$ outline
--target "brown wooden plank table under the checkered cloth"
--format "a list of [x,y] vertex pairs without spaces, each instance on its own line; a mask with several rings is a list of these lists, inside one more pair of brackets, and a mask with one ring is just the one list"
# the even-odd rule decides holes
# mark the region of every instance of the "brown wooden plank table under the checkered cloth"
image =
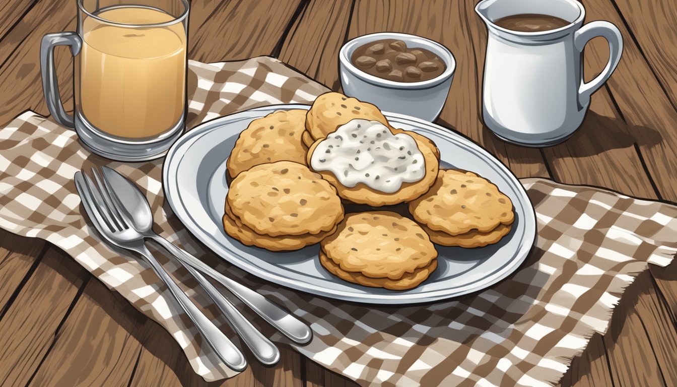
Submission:
[[[458,62],[439,123],[483,144],[518,177],[603,186],[677,201],[677,3],[586,0],[587,20],[609,20],[624,37],[613,77],[592,97],[580,131],[564,144],[523,148],[481,123],[486,30],[460,0],[192,1],[190,58],[203,62],[271,55],[339,89],[337,52],[353,37],[390,30],[435,39]],[[39,45],[74,30],[74,0],[5,0],[0,5],[0,124],[43,102]],[[586,79],[606,63],[596,39]],[[58,49],[62,96],[72,104],[71,59]],[[594,73],[593,73],[594,70]],[[0,148],[1,149],[1,148]],[[677,237],[677,236],[676,236]],[[569,386],[677,386],[677,266],[651,267],[615,308],[561,380]],[[39,239],[0,231],[0,384],[22,386],[203,385],[159,325]],[[344,386],[353,382],[288,348],[272,368],[251,366],[223,386]]]

